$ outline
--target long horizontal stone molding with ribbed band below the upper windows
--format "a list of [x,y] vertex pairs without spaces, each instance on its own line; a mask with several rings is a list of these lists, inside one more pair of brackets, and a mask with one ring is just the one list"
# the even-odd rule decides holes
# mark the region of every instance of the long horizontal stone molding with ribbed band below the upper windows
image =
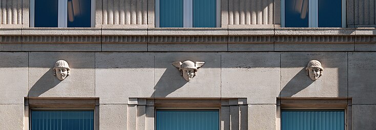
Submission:
[[[358,31],[358,32],[357,32]],[[0,43],[375,43],[376,29],[0,29]],[[240,32],[240,33],[234,33]],[[273,33],[274,32],[274,33]]]

